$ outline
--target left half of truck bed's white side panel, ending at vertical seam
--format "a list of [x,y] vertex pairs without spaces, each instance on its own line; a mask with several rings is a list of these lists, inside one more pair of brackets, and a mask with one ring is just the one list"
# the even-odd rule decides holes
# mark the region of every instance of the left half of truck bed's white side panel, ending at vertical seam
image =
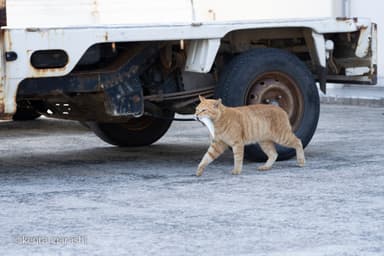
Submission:
[[7,0],[9,27],[190,22],[190,0]]

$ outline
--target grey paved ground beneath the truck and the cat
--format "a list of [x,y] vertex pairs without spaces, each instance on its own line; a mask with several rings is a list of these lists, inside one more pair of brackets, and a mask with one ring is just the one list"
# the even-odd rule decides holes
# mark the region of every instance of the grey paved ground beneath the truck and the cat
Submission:
[[76,123],[0,123],[1,255],[384,255],[384,108],[322,106],[307,165],[269,172],[176,122],[122,149]]

